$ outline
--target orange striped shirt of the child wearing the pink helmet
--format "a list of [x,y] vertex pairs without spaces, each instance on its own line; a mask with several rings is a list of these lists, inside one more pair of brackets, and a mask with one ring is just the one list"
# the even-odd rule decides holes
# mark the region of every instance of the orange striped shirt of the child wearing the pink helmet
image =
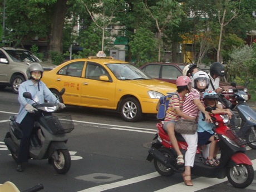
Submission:
[[[179,93],[178,93],[179,94]],[[180,97],[180,99],[179,99]],[[168,105],[168,110],[170,110],[166,116],[164,121],[178,121],[179,120],[179,115],[176,114],[176,110],[183,106],[185,97],[182,97],[179,95],[179,97],[177,95],[174,95],[170,98],[169,101],[169,105]]]

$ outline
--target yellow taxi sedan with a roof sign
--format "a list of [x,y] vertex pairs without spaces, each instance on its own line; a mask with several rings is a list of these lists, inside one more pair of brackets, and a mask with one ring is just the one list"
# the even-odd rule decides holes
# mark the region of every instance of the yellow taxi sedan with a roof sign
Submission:
[[[42,81],[66,105],[117,110],[129,122],[139,121],[143,114],[156,114],[159,98],[176,91],[175,84],[155,80],[103,52],[62,63],[44,72]],[[63,87],[66,91],[60,96]]]

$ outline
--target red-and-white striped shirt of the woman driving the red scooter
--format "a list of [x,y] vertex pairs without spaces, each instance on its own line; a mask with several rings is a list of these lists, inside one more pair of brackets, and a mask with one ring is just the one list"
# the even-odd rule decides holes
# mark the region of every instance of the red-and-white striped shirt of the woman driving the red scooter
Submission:
[[183,104],[183,110],[182,110],[184,114],[189,115],[190,117],[198,117],[200,112],[198,107],[193,102],[194,99],[199,99],[201,101],[201,104],[204,105],[203,94],[201,94],[200,96],[199,91],[193,88],[189,92],[189,95],[186,96],[186,100]]

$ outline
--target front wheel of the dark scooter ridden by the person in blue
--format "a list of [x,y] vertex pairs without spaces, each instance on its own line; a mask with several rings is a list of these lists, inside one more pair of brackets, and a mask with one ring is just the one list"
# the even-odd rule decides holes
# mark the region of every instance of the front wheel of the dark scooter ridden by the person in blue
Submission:
[[65,150],[56,150],[58,153],[58,160],[53,159],[53,168],[57,171],[58,174],[66,174],[71,167],[71,157],[67,149]]

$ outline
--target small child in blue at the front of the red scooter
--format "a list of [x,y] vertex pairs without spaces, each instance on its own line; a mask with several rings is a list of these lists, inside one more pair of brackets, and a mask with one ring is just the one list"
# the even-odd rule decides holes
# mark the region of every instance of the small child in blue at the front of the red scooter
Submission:
[[[231,118],[232,113],[229,110],[220,110],[216,108],[216,105],[218,104],[218,95],[215,91],[204,92],[203,100],[205,107],[209,106],[213,109],[211,111],[213,114],[228,114],[229,118]],[[204,119],[204,114],[200,112],[198,120],[198,144],[200,146],[203,146],[209,141],[211,142],[209,148],[209,155],[205,163],[209,166],[218,166],[219,160],[217,159],[216,155],[219,147],[216,146],[216,140],[213,132],[213,124],[205,122]]]

